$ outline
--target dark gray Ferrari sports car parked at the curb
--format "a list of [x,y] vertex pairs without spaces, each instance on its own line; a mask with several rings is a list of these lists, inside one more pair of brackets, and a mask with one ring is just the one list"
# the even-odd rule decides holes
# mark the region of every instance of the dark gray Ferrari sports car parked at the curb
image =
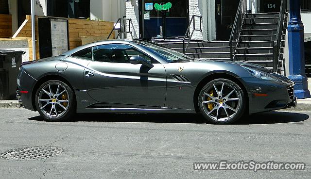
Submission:
[[201,113],[214,124],[295,107],[294,82],[262,66],[191,59],[142,40],[107,40],[23,63],[17,97],[47,121],[75,113]]

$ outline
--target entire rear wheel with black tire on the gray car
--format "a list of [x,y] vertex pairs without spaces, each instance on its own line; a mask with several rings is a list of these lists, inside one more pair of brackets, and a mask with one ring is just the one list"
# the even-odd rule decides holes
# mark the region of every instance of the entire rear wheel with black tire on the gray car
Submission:
[[[51,90],[52,93],[50,91],[50,95],[46,93],[48,92],[48,89],[52,89]],[[44,90],[46,92],[44,92]],[[66,92],[64,93],[59,92],[59,91],[65,91],[65,90]],[[60,94],[59,95],[57,93],[53,94],[55,91],[58,91],[58,93]],[[51,99],[49,100],[49,98]],[[49,101],[39,101],[39,99],[49,100]],[[61,102],[61,101],[68,101],[68,102]],[[50,81],[47,81],[41,84],[40,87],[37,89],[36,94],[35,94],[35,107],[37,111],[39,112],[39,114],[44,118],[45,121],[54,121],[54,122],[66,121],[76,113],[76,99],[75,99],[72,89],[69,87],[68,84],[66,84],[63,81],[50,80]],[[51,112],[50,114],[48,114],[47,111],[50,108],[51,108]]]

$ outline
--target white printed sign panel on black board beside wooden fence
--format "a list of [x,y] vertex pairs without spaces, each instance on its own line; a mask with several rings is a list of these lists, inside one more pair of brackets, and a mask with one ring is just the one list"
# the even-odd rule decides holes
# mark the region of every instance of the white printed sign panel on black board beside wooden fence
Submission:
[[67,20],[51,19],[52,55],[57,56],[68,51]]

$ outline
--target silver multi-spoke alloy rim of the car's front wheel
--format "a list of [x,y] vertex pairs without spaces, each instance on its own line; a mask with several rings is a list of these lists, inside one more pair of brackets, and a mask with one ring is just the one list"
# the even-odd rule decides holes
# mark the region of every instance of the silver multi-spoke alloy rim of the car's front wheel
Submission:
[[202,95],[202,106],[205,113],[216,121],[233,118],[241,108],[242,96],[230,84],[215,82],[208,86]]

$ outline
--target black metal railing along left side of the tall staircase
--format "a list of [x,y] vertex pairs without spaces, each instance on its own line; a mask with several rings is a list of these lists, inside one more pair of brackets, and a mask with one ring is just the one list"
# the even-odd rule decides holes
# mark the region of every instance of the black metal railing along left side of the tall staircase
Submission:
[[229,46],[230,46],[230,57],[233,61],[235,58],[235,53],[238,47],[242,26],[244,23],[244,18],[247,13],[246,0],[240,0],[237,14],[235,16],[234,24],[232,26],[232,31],[230,34]]

